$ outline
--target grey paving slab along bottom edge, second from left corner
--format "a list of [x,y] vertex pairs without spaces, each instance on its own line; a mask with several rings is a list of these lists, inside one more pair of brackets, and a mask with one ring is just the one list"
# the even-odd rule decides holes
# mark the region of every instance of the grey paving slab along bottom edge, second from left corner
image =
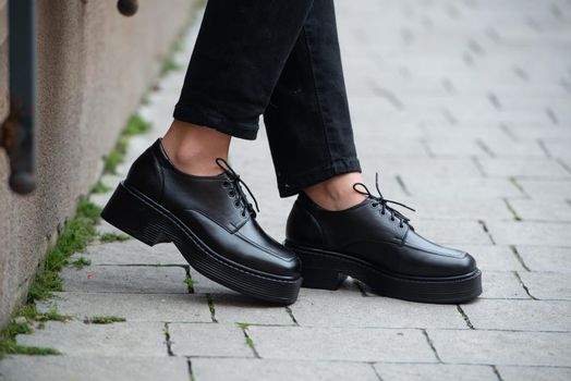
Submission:
[[196,380],[228,381],[378,381],[369,364],[243,358],[193,358]]

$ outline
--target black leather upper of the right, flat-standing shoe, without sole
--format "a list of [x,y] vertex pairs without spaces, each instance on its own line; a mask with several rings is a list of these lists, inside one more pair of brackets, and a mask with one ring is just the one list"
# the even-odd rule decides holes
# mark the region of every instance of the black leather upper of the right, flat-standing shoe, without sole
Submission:
[[301,193],[288,218],[287,239],[350,255],[405,275],[453,276],[476,269],[467,253],[422,237],[390,210],[382,213],[377,204],[368,197],[349,209],[329,211]]

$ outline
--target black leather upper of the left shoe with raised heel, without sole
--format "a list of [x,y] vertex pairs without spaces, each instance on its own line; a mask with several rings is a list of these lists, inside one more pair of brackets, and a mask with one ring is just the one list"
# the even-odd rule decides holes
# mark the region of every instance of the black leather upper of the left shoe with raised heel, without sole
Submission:
[[168,209],[228,260],[271,275],[299,275],[295,254],[262,230],[227,171],[216,176],[181,172],[157,139],[133,163],[125,185]]

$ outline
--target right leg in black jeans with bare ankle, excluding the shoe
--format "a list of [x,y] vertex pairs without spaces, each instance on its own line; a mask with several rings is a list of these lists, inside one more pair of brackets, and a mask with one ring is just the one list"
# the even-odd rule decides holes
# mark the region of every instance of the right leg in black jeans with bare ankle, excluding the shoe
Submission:
[[305,190],[327,209],[363,200],[332,0],[316,0],[264,113],[282,197]]

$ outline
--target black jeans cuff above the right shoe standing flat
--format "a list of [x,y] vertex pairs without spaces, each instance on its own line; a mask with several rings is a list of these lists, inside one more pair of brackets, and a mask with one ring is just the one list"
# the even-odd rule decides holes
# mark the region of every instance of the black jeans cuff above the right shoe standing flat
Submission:
[[281,176],[281,179],[278,179],[278,190],[280,197],[294,196],[307,186],[348,172],[361,172],[361,164],[356,157],[337,159],[302,173],[296,173],[291,176]]

